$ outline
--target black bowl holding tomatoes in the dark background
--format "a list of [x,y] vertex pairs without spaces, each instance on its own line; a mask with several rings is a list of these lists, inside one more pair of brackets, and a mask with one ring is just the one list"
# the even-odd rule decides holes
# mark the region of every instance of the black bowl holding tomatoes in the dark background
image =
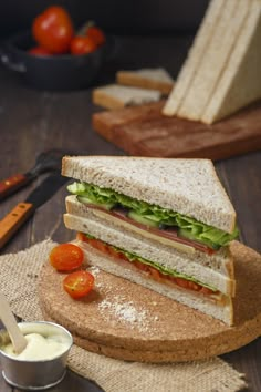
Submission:
[[71,91],[90,86],[105,61],[112,56],[114,40],[90,54],[33,55],[28,52],[35,42],[30,32],[19,33],[1,45],[0,60],[8,69],[23,75],[27,83],[45,91]]

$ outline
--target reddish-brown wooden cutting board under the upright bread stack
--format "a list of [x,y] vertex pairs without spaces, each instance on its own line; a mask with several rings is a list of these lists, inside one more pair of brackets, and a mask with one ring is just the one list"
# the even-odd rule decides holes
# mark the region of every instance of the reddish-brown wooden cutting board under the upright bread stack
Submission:
[[157,102],[93,115],[93,128],[129,155],[212,161],[261,149],[261,103],[213,125],[161,114]]

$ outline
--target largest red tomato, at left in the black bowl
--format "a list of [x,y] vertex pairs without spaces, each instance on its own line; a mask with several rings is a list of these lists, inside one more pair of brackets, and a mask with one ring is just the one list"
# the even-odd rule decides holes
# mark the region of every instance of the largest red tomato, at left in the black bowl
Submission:
[[34,40],[51,53],[66,53],[74,34],[70,14],[63,7],[49,7],[32,24]]

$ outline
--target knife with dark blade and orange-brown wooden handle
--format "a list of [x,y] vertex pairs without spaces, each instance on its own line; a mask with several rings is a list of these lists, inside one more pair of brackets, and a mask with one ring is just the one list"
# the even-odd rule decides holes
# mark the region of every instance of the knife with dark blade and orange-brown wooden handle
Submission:
[[36,208],[50,199],[58,189],[69,180],[60,172],[49,175],[28,196],[0,220],[0,249],[17,233],[17,230],[34,214]]

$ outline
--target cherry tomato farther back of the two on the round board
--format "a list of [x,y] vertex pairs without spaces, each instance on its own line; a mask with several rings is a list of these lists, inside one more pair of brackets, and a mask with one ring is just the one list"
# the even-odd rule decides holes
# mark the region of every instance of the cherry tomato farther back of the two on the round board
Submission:
[[50,252],[50,262],[58,271],[71,271],[83,264],[83,250],[74,244],[61,244]]

